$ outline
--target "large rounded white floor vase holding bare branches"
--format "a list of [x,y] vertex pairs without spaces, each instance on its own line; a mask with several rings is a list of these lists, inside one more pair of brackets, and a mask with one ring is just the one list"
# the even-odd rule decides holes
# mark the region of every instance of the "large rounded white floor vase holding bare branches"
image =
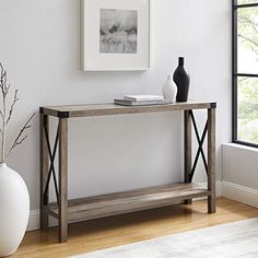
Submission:
[[22,177],[0,164],[0,257],[14,254],[28,222],[30,197]]

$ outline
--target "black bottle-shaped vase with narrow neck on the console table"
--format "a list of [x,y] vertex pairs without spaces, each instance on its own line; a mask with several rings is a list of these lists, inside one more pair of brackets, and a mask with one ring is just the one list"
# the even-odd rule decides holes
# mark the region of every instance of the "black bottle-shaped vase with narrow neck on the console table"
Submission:
[[187,102],[189,85],[190,85],[190,77],[184,68],[185,59],[184,57],[178,58],[178,67],[174,72],[173,80],[177,85],[177,102]]

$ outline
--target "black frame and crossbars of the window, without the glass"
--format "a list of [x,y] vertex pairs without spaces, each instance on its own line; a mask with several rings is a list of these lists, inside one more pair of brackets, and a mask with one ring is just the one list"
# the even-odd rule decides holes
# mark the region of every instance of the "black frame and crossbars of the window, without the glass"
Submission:
[[244,142],[237,139],[237,78],[258,78],[258,74],[254,73],[237,73],[237,10],[241,8],[258,8],[257,3],[237,4],[237,0],[232,0],[232,89],[233,89],[233,104],[232,104],[232,141],[234,143],[255,146],[258,144],[251,142]]

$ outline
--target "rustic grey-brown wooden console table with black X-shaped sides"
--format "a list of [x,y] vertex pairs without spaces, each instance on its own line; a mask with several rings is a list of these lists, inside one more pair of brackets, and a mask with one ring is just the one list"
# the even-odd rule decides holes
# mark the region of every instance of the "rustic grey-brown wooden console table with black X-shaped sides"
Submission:
[[[198,132],[195,109],[208,110],[208,119],[202,134]],[[184,183],[68,200],[69,119],[174,110],[184,112]],[[68,223],[165,207],[183,201],[191,203],[192,198],[206,196],[208,197],[208,212],[215,212],[215,103],[199,101],[133,107],[114,104],[40,107],[40,228],[47,231],[49,215],[56,218],[59,227],[59,242],[63,243],[68,239]],[[58,119],[57,134],[52,146],[49,140],[50,116]],[[192,129],[199,143],[195,160],[192,159]],[[207,134],[208,151],[206,155],[203,143]],[[59,150],[58,178],[54,165],[57,149]],[[202,159],[207,171],[207,188],[191,183],[199,157]],[[55,203],[49,203],[51,177],[57,197]]]

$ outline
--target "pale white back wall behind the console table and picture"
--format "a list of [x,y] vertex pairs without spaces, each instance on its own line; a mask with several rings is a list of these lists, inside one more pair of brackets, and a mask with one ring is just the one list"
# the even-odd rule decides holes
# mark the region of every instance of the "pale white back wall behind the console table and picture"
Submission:
[[[153,0],[152,33],[150,71],[81,72],[79,0],[1,0],[0,61],[21,97],[9,137],[43,105],[160,94],[177,57],[185,56],[190,97],[219,104],[221,179],[220,146],[231,139],[231,1]],[[71,120],[70,197],[181,180],[181,119],[174,113]],[[38,138],[37,117],[28,140],[9,161],[28,186],[32,210],[39,199]],[[199,171],[196,180],[204,181],[202,165]]]

